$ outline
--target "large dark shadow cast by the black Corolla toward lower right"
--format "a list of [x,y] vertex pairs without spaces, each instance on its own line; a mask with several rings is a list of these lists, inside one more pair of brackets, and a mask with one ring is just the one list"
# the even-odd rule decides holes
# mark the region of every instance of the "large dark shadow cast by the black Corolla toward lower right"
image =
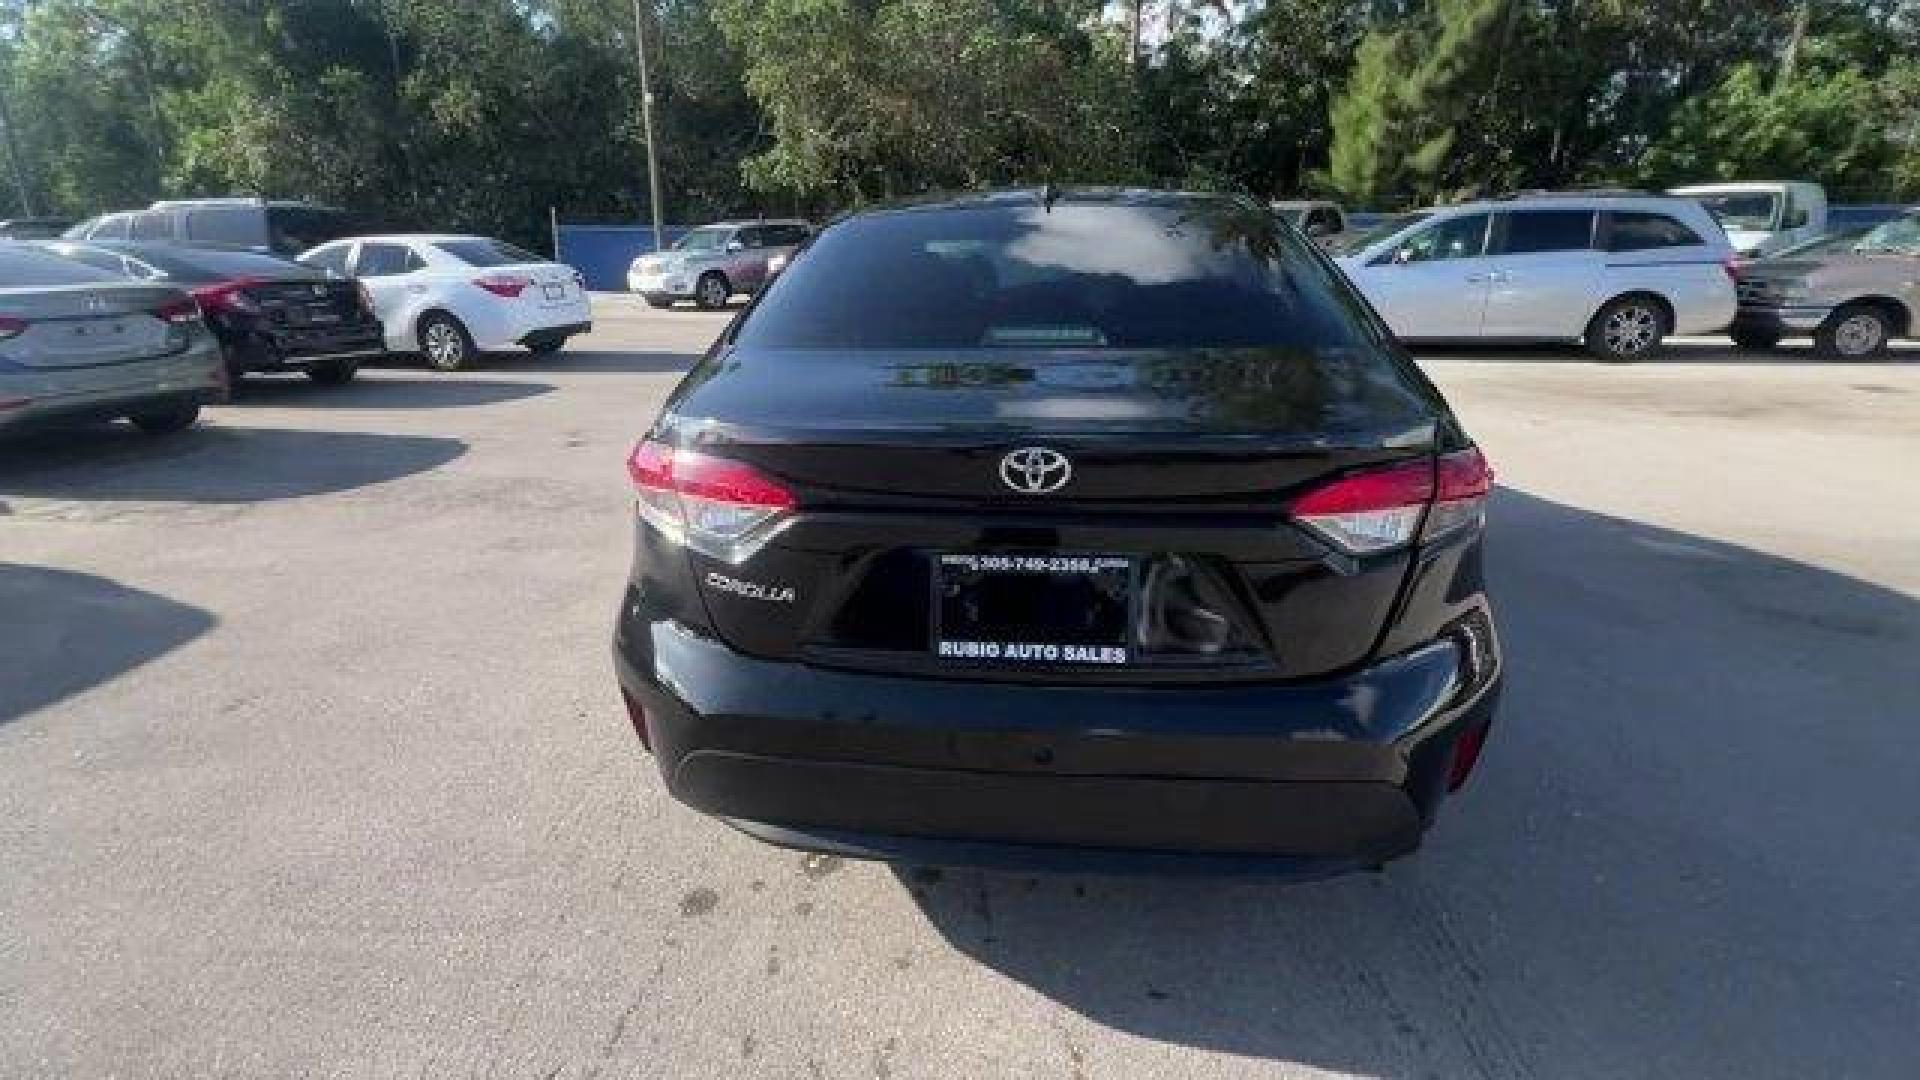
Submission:
[[977,963],[1165,1043],[1394,1078],[1910,1076],[1920,601],[1513,490],[1488,550],[1507,696],[1421,853],[902,886]]

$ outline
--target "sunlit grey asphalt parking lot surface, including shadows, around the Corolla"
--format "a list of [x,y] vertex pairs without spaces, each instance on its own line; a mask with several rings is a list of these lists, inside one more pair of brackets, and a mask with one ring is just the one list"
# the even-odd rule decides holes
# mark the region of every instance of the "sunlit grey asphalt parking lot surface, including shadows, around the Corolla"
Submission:
[[622,455],[722,319],[0,444],[0,1072],[1912,1076],[1920,354],[1430,356],[1501,724],[1425,851],[1275,884],[666,799]]

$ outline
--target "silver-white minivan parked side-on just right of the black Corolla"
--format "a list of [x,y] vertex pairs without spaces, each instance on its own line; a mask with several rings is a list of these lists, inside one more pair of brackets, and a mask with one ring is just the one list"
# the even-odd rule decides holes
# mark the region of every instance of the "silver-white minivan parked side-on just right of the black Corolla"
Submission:
[[1734,321],[1734,250],[1701,204],[1542,194],[1390,217],[1338,265],[1405,340],[1565,340],[1640,359]]

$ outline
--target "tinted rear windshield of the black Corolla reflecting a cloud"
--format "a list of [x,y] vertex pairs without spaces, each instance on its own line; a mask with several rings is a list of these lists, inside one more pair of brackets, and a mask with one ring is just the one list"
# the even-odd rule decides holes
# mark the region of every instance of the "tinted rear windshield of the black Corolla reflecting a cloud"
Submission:
[[1344,348],[1373,340],[1296,234],[1225,198],[854,217],[745,319],[749,348]]

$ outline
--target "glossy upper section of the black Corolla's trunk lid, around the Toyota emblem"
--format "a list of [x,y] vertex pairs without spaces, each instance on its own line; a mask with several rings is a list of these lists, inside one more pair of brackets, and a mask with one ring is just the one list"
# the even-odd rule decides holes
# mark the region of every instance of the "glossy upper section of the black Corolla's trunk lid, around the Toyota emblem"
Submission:
[[[1432,444],[1434,407],[1382,367],[1357,350],[735,352],[697,369],[672,415],[684,438],[814,502],[1271,509]],[[1041,500],[1016,490],[1000,465],[1025,446],[1068,455],[1069,480]]]

